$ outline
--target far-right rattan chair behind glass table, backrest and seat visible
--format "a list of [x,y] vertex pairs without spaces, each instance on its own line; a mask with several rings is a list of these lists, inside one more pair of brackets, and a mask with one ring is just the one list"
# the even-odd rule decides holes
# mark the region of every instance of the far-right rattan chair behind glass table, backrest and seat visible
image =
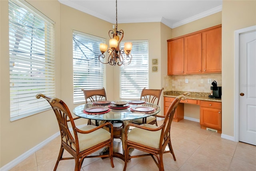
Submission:
[[[154,103],[154,104],[158,105],[160,97],[161,97],[161,93],[163,90],[164,90],[164,88],[162,88],[162,89],[146,89],[146,87],[144,87],[140,94],[140,100],[144,100],[145,102],[150,102],[150,103]],[[156,116],[148,116],[146,118],[134,119],[132,121],[132,123],[138,124],[138,125],[141,125],[141,124],[154,125],[154,124],[156,124],[156,126],[157,126]]]

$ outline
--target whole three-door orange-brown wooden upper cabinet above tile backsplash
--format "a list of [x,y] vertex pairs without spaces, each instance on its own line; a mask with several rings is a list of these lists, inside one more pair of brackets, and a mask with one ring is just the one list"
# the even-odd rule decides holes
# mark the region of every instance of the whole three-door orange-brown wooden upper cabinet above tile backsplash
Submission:
[[221,73],[221,25],[168,40],[168,75]]

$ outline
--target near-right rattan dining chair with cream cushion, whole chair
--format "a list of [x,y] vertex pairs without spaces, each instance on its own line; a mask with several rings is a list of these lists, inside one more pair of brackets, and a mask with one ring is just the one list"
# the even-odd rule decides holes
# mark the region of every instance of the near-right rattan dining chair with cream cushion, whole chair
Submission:
[[[186,92],[186,96],[189,96],[190,93]],[[174,155],[174,151],[172,149],[171,137],[170,137],[170,128],[172,124],[172,119],[175,114],[175,110],[180,102],[180,100],[185,100],[186,96],[184,94],[176,97],[170,107],[168,108],[166,115],[164,117],[164,123],[161,126],[155,126],[151,124],[127,124],[125,128],[124,135],[124,169],[126,170],[127,163],[129,159],[135,157],[144,157],[151,156],[156,165],[158,166],[159,171],[164,171],[164,163],[163,163],[163,154],[171,153],[174,161],[176,161],[176,157]],[[132,130],[129,132],[129,126],[133,126]],[[168,145],[169,150],[166,151],[166,146]],[[129,150],[131,148],[138,149],[140,151],[146,152],[146,154],[138,154],[135,155],[129,154]]]

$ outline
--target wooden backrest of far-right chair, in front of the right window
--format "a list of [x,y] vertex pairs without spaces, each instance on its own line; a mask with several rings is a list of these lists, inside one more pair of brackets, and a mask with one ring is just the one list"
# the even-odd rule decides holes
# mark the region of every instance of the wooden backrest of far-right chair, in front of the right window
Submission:
[[164,88],[146,89],[146,87],[144,87],[140,94],[140,100],[144,100],[146,102],[150,102],[158,105],[162,90],[164,90]]

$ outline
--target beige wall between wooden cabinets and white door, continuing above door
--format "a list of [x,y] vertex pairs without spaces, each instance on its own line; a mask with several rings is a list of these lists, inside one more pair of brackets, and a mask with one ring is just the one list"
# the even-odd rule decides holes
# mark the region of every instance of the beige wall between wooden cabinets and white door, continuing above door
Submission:
[[222,4],[222,134],[234,136],[234,31],[256,25],[256,1]]

